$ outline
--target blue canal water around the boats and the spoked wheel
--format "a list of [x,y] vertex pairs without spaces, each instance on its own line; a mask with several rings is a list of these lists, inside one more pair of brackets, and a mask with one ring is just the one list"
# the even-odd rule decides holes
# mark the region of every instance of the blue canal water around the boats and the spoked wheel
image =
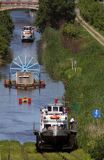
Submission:
[[[21,42],[21,29],[24,25],[33,25],[33,17],[27,11],[11,11],[11,17],[15,28],[13,38],[10,43],[10,49],[13,58],[18,55],[30,55],[37,58],[37,41],[40,34],[35,32],[35,41],[33,43]],[[34,141],[33,123],[39,124],[39,110],[42,105],[52,102],[56,97],[62,97],[64,94],[64,85],[62,82],[53,81],[46,73],[44,66],[41,66],[41,79],[45,80],[44,89],[34,89],[29,91],[8,89],[3,85],[3,81],[9,75],[10,65],[0,69],[0,140],[18,140],[21,143]],[[18,98],[31,97],[32,103],[18,104]]]

